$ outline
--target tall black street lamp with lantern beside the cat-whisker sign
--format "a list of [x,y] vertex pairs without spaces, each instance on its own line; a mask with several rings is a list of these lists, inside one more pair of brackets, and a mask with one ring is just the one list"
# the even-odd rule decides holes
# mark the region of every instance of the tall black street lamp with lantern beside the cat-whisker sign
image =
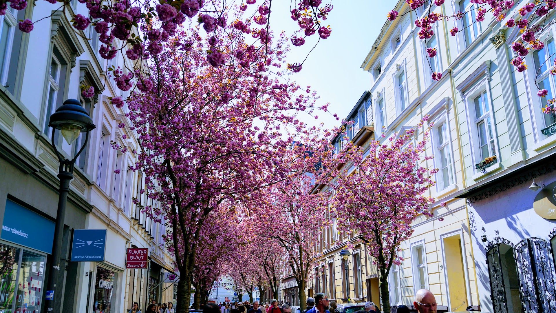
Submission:
[[[57,288],[58,274],[60,271],[60,257],[62,253],[62,237],[64,229],[64,217],[66,217],[66,200],[69,192],[69,182],[73,179],[73,165],[77,157],[81,154],[87,140],[89,139],[89,132],[96,126],[93,120],[87,113],[81,102],[76,99],[68,99],[64,101],[62,106],[58,107],[56,112],[50,116],[48,126],[52,127],[52,148],[58,156],[60,167],[58,169],[58,178],[60,179],[58,211],[56,213],[56,227],[54,228],[54,242],[52,243],[52,270],[48,275],[47,291],[46,291],[46,312],[59,312],[59,306],[56,306],[56,299],[54,291],[60,292],[61,288]],[[56,130],[62,133],[66,142],[71,145],[79,137],[81,133],[86,133],[85,142],[81,149],[73,156],[73,159],[68,160],[64,158],[56,148],[54,143],[54,134]]]

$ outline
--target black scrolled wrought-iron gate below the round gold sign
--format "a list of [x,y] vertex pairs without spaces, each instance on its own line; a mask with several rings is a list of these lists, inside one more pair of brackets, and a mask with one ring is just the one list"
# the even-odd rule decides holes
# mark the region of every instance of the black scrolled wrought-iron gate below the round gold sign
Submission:
[[527,238],[515,246],[519,287],[526,313],[556,313],[554,260],[550,243]]

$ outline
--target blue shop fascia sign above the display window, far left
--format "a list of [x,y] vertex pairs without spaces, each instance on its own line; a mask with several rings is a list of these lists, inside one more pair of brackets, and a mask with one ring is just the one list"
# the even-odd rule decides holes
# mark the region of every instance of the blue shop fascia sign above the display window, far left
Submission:
[[8,199],[0,238],[52,253],[54,222]]

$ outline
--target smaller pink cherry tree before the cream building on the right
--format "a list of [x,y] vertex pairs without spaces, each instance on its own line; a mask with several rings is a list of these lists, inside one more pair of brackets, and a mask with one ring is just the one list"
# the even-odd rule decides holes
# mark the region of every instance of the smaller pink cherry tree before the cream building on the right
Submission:
[[380,273],[383,310],[387,313],[388,275],[392,265],[400,265],[403,260],[399,256],[400,244],[409,239],[413,233],[411,223],[420,214],[432,216],[429,204],[434,201],[426,191],[434,185],[432,175],[437,170],[423,164],[432,158],[423,155],[429,130],[423,132],[420,141],[413,142],[421,128],[423,121],[405,134],[393,135],[384,144],[371,140],[368,156],[361,147],[346,142],[337,154],[322,159],[328,170],[327,185],[336,191],[332,214],[337,227],[343,233],[355,234],[373,256]]

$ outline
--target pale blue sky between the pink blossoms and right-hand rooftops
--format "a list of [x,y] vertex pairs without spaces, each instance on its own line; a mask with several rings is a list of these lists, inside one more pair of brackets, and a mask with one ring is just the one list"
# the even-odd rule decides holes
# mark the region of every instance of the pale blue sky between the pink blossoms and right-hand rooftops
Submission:
[[[327,1],[324,0],[324,3]],[[346,118],[363,91],[370,89],[369,72],[360,69],[386,21],[386,13],[394,8],[396,0],[332,0],[334,9],[324,25],[332,28],[331,36],[321,40],[311,52],[301,72],[290,75],[301,86],[310,85],[318,92],[320,103],[330,102],[329,111]],[[297,27],[290,18],[290,0],[272,2],[271,28],[291,33]],[[302,47],[291,47],[288,61],[301,62],[316,42],[311,36]],[[319,120],[332,128],[340,122],[330,114],[319,114]]]

